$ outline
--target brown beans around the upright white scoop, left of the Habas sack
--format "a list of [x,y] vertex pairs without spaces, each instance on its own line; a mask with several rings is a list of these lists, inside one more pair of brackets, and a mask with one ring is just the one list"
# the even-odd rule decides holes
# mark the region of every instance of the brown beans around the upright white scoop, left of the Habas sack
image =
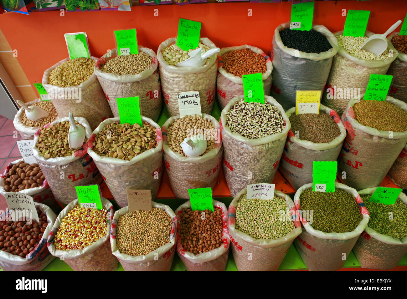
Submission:
[[[75,121],[79,126],[79,122]],[[59,122],[53,124],[49,127],[42,128],[41,133],[38,137],[37,148],[39,154],[46,158],[55,158],[55,157],[68,157],[72,156],[80,148],[70,148],[68,143],[68,132],[71,123],[69,121]],[[83,126],[82,126],[83,127]],[[88,139],[85,137],[83,144],[85,144]]]

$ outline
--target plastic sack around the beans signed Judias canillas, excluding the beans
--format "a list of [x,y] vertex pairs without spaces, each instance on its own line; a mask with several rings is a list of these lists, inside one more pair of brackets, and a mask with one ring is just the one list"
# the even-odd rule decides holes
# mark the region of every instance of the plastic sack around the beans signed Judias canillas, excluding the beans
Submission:
[[114,117],[119,117],[116,98],[138,96],[140,98],[142,115],[157,121],[162,108],[157,57],[153,50],[143,46],[138,46],[138,51],[150,55],[152,63],[148,70],[136,75],[118,75],[104,72],[101,70],[101,66],[107,60],[117,57],[117,49],[113,49],[98,59],[95,66],[95,74],[102,86]]

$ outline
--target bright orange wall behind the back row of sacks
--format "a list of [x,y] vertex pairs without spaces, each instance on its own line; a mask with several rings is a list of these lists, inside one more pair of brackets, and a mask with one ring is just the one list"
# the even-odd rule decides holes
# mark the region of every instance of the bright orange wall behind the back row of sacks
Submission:
[[[159,16],[154,17],[154,9]],[[252,9],[253,16],[247,16]],[[406,0],[315,2],[314,24],[330,31],[343,29],[342,9],[370,10],[368,29],[383,33],[407,12]],[[0,15],[0,28],[31,83],[41,82],[46,68],[68,57],[64,33],[85,31],[90,52],[100,57],[114,48],[113,30],[136,27],[139,44],[157,50],[158,45],[177,33],[178,18],[202,22],[201,37],[209,37],[217,46],[249,44],[271,51],[271,39],[278,24],[290,17],[291,2],[212,3],[133,7],[127,11],[66,12],[48,11],[22,15]]]

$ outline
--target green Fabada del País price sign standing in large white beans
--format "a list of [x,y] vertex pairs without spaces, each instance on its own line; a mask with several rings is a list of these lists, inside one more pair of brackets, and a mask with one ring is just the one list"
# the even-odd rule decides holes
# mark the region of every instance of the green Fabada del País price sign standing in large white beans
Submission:
[[177,46],[184,51],[197,48],[200,34],[201,22],[180,18],[178,23]]

